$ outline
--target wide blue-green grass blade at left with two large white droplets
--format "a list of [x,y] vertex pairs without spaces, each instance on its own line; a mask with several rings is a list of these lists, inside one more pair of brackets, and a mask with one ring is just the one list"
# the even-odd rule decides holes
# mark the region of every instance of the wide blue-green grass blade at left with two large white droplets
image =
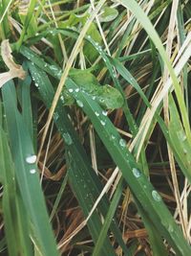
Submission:
[[43,254],[58,255],[36,171],[37,167],[34,163],[29,164],[26,161],[26,157],[34,155],[32,139],[17,110],[14,84],[11,81],[5,84],[2,93],[16,178],[25,207],[32,220],[34,235]]

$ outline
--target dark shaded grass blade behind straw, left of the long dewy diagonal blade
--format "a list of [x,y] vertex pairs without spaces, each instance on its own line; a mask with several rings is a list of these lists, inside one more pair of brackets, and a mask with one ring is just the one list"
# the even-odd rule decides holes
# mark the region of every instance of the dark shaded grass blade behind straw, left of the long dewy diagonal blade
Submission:
[[[32,79],[38,83],[38,89],[43,101],[47,107],[50,107],[50,103],[53,101],[53,86],[51,82],[46,74],[43,71],[40,71],[39,68],[32,65],[32,63],[28,63],[28,66],[32,74]],[[68,115],[65,112],[61,101],[57,105],[54,114],[54,122],[60,131],[60,134],[65,139],[69,155],[72,155],[69,161],[69,181],[72,185],[74,195],[83,210],[84,216],[87,217],[94,205],[94,202],[96,201],[96,198],[98,198],[99,191],[101,190],[100,183],[95,171],[90,167],[83,148],[79,144],[74,128],[69,121]],[[108,209],[107,205],[108,203],[106,203],[105,200],[100,204],[100,212],[102,214],[106,214]],[[101,222],[97,213],[95,213],[88,221],[88,226],[93,240],[96,243],[101,228]],[[114,249],[108,239],[104,244],[102,253],[103,255],[108,255],[108,253],[110,255],[115,255]]]

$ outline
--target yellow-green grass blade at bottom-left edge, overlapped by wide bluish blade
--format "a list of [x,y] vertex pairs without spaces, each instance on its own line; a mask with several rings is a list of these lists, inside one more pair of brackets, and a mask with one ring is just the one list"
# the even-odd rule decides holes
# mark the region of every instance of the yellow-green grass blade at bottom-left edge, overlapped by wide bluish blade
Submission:
[[[3,183],[3,217],[9,254],[32,255],[30,221],[16,189],[7,134],[0,128],[0,181]],[[25,216],[24,219],[22,217]],[[16,234],[16,236],[15,236]]]

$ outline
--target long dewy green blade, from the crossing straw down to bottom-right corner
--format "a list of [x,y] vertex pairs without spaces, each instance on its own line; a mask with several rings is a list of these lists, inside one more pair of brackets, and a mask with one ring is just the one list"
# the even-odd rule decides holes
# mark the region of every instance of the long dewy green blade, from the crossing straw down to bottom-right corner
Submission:
[[160,235],[172,245],[179,255],[183,256],[186,253],[190,253],[189,245],[184,240],[179,226],[162,202],[159,193],[153,188],[146,176],[138,171],[138,164],[133,155],[127,150],[125,141],[119,136],[117,129],[114,128],[111,121],[102,114],[101,107],[89,98],[87,94],[81,91],[76,93],[75,89],[78,86],[73,81],[68,81],[66,86],[70,91],[73,89],[75,100],[81,102],[80,106],[91,119],[96,132],[115,160],[132,193],[138,198],[138,202],[144,211],[154,223],[158,222]]

